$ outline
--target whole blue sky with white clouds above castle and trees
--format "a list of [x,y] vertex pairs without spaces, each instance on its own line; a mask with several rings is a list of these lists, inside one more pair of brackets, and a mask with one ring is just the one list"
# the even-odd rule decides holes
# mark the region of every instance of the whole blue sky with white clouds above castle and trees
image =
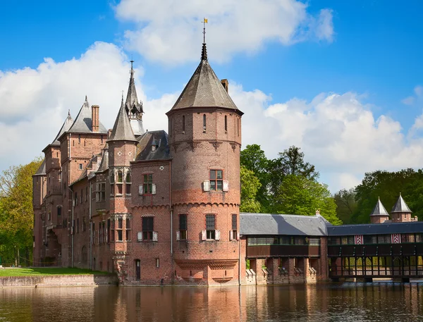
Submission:
[[[54,140],[88,97],[111,128],[130,60],[144,128],[207,52],[243,116],[243,147],[295,145],[331,192],[364,173],[422,168],[422,1],[5,1],[0,19],[0,171]],[[125,93],[124,92],[124,93]]]

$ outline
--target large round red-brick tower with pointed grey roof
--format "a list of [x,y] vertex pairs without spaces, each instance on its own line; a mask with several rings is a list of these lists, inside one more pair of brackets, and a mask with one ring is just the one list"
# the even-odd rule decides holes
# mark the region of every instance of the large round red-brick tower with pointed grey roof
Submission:
[[176,280],[238,283],[241,112],[202,46],[168,116]]

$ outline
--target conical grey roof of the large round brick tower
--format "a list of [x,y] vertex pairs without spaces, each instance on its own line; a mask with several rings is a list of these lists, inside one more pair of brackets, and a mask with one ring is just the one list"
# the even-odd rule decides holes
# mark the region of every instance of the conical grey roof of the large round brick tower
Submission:
[[[205,44],[203,44],[203,54],[200,65],[195,70],[188,84],[183,89],[180,97],[173,105],[171,111],[188,107],[221,107],[238,110],[233,103],[226,89],[217,78],[214,70],[204,56]],[[170,113],[171,111],[168,111]]]

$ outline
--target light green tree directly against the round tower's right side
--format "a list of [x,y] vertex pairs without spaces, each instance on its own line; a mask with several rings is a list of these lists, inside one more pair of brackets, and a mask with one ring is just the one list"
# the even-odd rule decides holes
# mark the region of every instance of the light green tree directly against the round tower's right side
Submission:
[[258,213],[260,212],[260,203],[256,196],[259,188],[262,186],[254,172],[248,170],[245,166],[240,169],[241,178],[241,205],[240,211]]

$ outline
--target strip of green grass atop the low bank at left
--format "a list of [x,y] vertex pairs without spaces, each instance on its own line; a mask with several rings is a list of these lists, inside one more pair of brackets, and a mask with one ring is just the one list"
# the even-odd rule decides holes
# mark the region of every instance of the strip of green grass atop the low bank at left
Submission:
[[107,272],[90,271],[80,268],[4,268],[0,269],[1,276],[45,276],[45,275],[106,275]]

